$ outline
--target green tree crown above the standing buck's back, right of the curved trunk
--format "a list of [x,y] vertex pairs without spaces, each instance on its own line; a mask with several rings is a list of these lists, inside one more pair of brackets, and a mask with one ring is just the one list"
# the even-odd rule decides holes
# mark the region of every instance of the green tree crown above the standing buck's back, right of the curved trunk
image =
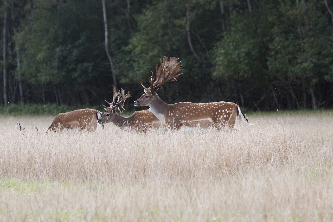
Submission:
[[263,72],[262,43],[248,17],[249,14],[244,14],[243,19],[234,15],[232,22],[235,26],[230,34],[216,43],[212,50],[213,78],[222,81],[250,79],[257,78],[256,74]]

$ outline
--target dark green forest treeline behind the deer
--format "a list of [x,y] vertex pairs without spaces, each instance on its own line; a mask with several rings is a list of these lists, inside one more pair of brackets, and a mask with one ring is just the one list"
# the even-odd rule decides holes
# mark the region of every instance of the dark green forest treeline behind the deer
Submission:
[[133,107],[166,55],[184,69],[168,103],[333,107],[332,0],[103,1],[1,1],[1,104],[101,105],[117,85]]

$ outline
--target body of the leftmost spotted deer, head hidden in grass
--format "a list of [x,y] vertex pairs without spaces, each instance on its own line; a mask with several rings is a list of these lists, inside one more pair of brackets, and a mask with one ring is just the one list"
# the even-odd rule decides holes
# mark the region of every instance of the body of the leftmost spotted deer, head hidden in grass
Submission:
[[[96,109],[78,109],[67,113],[59,113],[47,132],[61,131],[64,129],[81,129],[92,132],[96,130],[97,120],[99,120],[101,116],[102,113]],[[103,124],[102,127],[104,128]]]

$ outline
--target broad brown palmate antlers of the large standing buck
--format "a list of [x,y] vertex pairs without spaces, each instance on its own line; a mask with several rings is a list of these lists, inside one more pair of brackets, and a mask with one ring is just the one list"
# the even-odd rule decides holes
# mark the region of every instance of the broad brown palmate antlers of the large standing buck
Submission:
[[173,82],[177,81],[176,77],[180,76],[182,73],[178,74],[182,68],[181,68],[181,62],[178,62],[179,58],[170,57],[167,58],[164,56],[163,62],[160,60],[161,66],[158,67],[158,64],[156,62],[156,80],[153,83],[154,80],[154,73],[152,72],[152,77],[149,78],[149,82],[151,83],[151,86],[149,88],[146,88],[141,81],[142,87],[146,91],[153,90],[156,92],[159,88],[162,87],[162,85],[166,82]]

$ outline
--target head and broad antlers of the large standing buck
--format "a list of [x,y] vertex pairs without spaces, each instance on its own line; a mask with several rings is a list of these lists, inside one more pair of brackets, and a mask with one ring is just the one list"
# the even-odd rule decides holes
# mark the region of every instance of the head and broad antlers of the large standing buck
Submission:
[[138,100],[134,101],[135,106],[149,106],[152,100],[157,96],[156,91],[162,88],[162,85],[166,82],[177,81],[177,77],[182,73],[178,74],[181,68],[181,62],[178,62],[179,58],[170,57],[167,58],[164,56],[163,62],[160,60],[160,67],[156,62],[156,79],[154,82],[154,73],[152,72],[152,76],[149,78],[150,87],[147,88],[144,86],[141,81],[141,85],[145,90],[145,94],[143,94]]

